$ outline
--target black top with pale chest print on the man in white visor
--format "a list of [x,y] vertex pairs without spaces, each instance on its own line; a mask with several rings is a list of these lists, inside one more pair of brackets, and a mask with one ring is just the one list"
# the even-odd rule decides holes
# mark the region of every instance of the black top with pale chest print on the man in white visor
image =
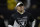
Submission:
[[[19,14],[18,12],[16,12],[15,14],[12,14],[9,19],[9,24],[13,25],[15,20],[17,21],[17,23],[19,25],[22,25],[21,22],[24,22],[26,24],[26,27],[29,27],[30,26],[29,22],[32,22],[34,20],[34,18],[31,13],[28,13],[25,11],[24,14],[22,14],[22,15]],[[25,24],[24,24],[24,26],[25,26]]]

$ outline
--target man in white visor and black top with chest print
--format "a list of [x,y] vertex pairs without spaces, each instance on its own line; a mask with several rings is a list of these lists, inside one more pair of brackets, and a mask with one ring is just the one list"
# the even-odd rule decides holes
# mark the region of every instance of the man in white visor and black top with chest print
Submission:
[[31,27],[30,22],[34,20],[31,13],[28,13],[24,10],[24,5],[22,2],[19,2],[16,5],[16,12],[12,14],[9,19],[8,27]]

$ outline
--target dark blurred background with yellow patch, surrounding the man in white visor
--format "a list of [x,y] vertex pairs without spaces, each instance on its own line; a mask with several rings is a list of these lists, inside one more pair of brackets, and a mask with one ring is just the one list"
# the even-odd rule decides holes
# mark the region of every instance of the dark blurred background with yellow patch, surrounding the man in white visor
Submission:
[[4,26],[4,20],[8,20],[15,13],[16,4],[22,1],[25,10],[36,19],[35,27],[40,27],[40,0],[0,0],[0,27]]

